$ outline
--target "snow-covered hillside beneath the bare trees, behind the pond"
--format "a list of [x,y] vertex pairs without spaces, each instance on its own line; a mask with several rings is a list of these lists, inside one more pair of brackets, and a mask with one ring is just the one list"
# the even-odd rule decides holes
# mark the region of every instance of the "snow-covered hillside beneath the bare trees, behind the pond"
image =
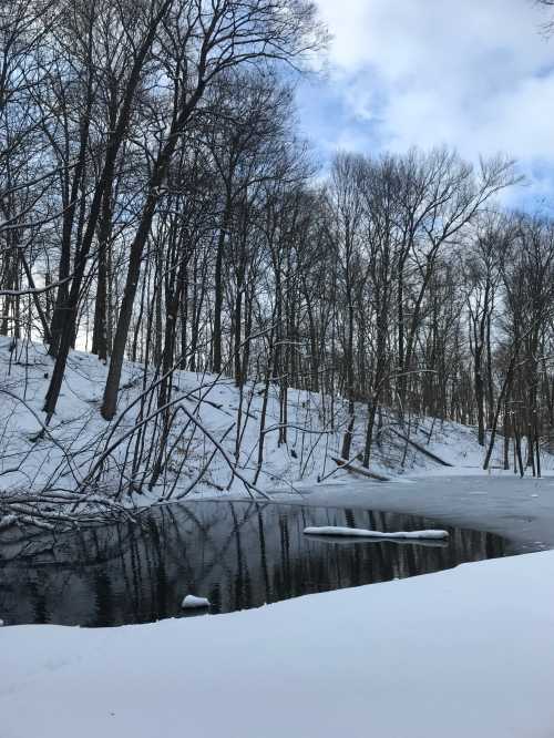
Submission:
[[[295,491],[318,480],[351,479],[350,472],[339,470],[336,463],[345,428],[345,407],[340,400],[334,403],[335,428],[331,428],[329,399],[289,390],[287,441],[279,444],[278,390],[270,388],[264,458],[258,472],[263,388],[248,383],[240,393],[232,380],[177,371],[173,397],[183,412],[171,430],[167,465],[153,489],[141,484],[144,463],[152,464],[146,435],[134,467],[133,484],[123,490],[120,470],[125,470],[129,481],[127,469],[132,467],[132,454],[136,453],[131,432],[138,423],[137,399],[153,376],[145,377],[140,365],[125,363],[120,414],[109,423],[99,412],[106,367],[95,356],[72,351],[58,412],[44,430],[42,403],[52,366],[43,346],[23,341],[13,345],[10,339],[0,338],[0,490],[4,495],[32,495],[49,489],[58,502],[68,493],[80,491],[88,500],[106,496],[125,505],[144,505],[162,496],[174,500],[188,493],[219,495],[229,491],[256,495],[278,489]],[[191,417],[195,419],[193,422]],[[355,454],[362,450],[365,419],[366,409],[360,406]],[[404,426],[402,433],[409,432],[410,441],[421,449],[460,471],[480,472],[483,450],[472,429],[432,419],[412,421],[410,426],[409,431]],[[238,453],[237,427],[240,428]],[[392,419],[384,418],[373,448],[370,469],[388,478],[447,471],[422,450],[407,443]],[[501,450],[499,442],[494,465],[500,464]],[[101,458],[104,461],[99,467]],[[545,454],[544,471],[553,468],[552,457]],[[362,478],[357,475],[357,479]],[[129,489],[133,492],[129,493]]]

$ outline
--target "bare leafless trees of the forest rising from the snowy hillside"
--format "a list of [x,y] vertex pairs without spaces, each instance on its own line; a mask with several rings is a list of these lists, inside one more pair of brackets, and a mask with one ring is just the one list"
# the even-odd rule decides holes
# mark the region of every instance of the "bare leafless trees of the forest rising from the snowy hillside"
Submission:
[[[287,447],[293,430],[335,433],[341,463],[369,469],[420,418],[475,427],[484,469],[496,447],[504,469],[541,475],[554,221],[506,207],[524,184],[509,153],[318,161],[296,88],[327,43],[305,0],[1,3],[0,336],[14,363],[29,341],[49,357],[41,406],[14,400],[33,443],[55,443],[71,351],[105,366],[101,450],[72,493],[107,478],[173,489],[187,433],[250,492],[267,439]],[[130,401],[126,362],[142,372]],[[224,437],[187,409],[179,372],[198,377],[198,402],[235,387]],[[293,391],[317,397],[317,429],[289,418]],[[0,385],[0,406],[13,394]]]

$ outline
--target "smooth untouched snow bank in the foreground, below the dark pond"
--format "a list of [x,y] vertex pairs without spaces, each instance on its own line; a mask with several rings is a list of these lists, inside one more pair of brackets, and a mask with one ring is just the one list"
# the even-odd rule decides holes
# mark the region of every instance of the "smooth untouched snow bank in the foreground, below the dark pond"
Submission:
[[2,738],[546,738],[554,552],[0,653]]

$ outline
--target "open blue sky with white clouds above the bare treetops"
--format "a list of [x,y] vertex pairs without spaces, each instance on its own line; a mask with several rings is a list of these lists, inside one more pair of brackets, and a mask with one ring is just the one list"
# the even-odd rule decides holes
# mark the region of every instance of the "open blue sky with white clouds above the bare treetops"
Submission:
[[534,0],[317,0],[334,35],[325,80],[302,82],[301,121],[336,148],[507,152],[534,207],[554,202],[554,37]]

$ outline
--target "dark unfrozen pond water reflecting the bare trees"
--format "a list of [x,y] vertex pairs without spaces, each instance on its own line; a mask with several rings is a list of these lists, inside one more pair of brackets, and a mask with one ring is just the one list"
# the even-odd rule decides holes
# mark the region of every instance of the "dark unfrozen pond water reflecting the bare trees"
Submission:
[[398,513],[249,502],[196,502],[148,513],[143,525],[48,535],[0,546],[0,618],[7,625],[106,626],[182,616],[186,594],[209,612],[258,607],[308,593],[502,556],[504,539],[461,529],[448,542],[330,541],[307,525],[379,531],[444,527]]

